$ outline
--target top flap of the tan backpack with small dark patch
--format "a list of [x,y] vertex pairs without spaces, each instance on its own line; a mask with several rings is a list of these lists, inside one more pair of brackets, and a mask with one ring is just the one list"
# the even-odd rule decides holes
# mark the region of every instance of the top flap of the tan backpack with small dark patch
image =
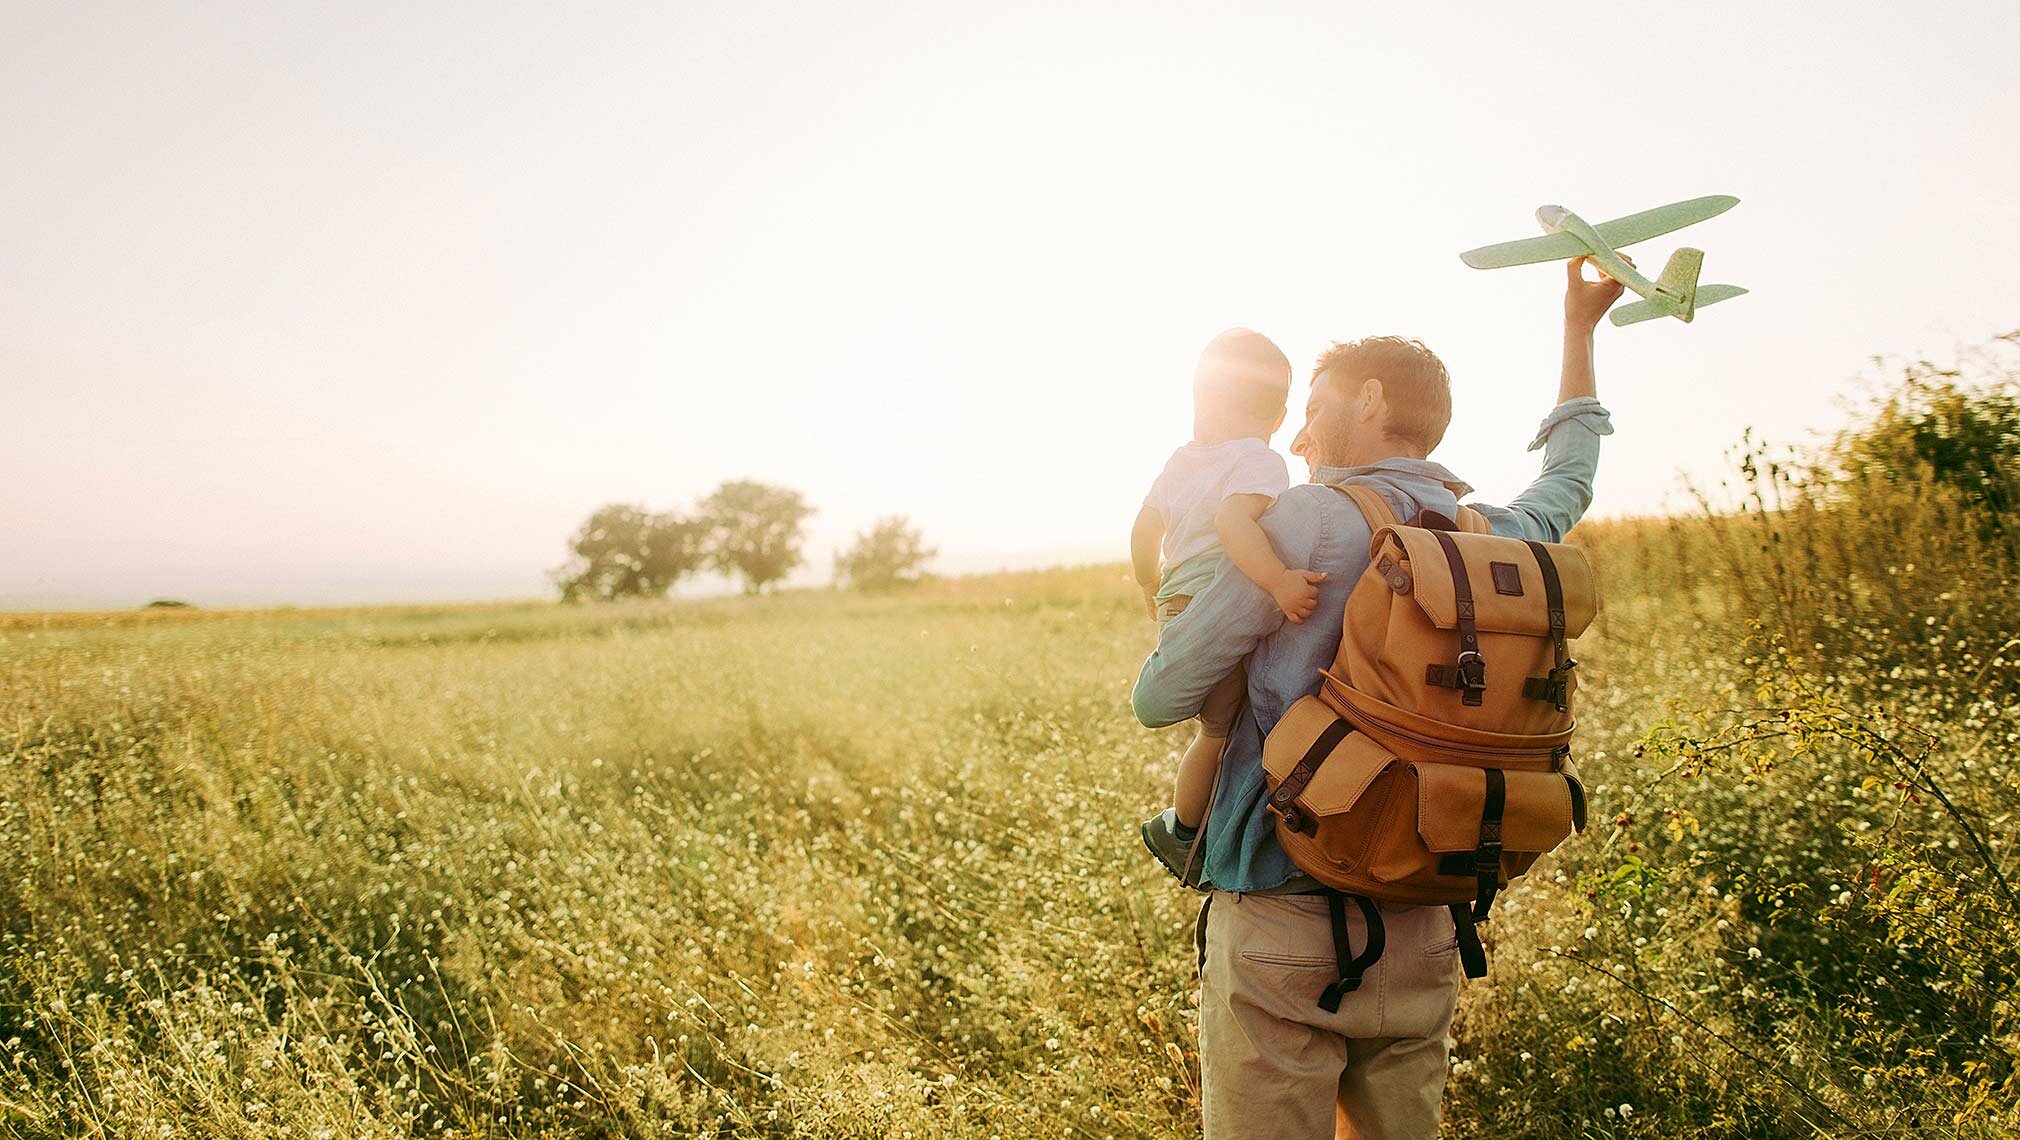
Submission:
[[[1543,568],[1535,550],[1519,538],[1499,534],[1448,534],[1467,566],[1473,586],[1475,625],[1489,633],[1523,633],[1549,637],[1549,606],[1545,604]],[[1592,578],[1586,552],[1561,542],[1539,544],[1549,552],[1563,588],[1563,637],[1586,633],[1600,612],[1600,592]],[[1458,590],[1438,534],[1394,526],[1382,528],[1374,540],[1374,562],[1398,594],[1408,592],[1438,629],[1458,625]]]

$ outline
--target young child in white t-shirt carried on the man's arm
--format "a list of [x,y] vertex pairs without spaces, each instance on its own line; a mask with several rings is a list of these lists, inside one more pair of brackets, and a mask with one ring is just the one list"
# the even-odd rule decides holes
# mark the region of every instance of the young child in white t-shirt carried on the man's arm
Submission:
[[[1301,623],[1317,608],[1317,582],[1325,574],[1287,568],[1258,521],[1291,485],[1283,457],[1269,447],[1289,396],[1291,360],[1258,331],[1228,329],[1200,354],[1192,374],[1192,443],[1166,461],[1129,534],[1135,578],[1159,625],[1214,580],[1222,552],[1277,598],[1287,619]],[[1178,762],[1172,806],[1143,823],[1143,845],[1188,885],[1196,885],[1196,875],[1188,875],[1192,841],[1246,695],[1244,669],[1214,685],[1200,707],[1200,732]]]

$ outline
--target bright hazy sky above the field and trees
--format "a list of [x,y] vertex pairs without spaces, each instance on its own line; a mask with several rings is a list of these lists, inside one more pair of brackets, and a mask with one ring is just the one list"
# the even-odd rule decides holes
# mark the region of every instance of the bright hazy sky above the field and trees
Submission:
[[2010,8],[1719,8],[4,4],[0,608],[539,596],[733,477],[806,580],[1119,560],[1234,323],[1424,338],[1493,501],[1561,275],[1456,253],[1737,194],[1634,253],[1749,297],[1600,329],[1596,511],[1679,503],[2020,323]]

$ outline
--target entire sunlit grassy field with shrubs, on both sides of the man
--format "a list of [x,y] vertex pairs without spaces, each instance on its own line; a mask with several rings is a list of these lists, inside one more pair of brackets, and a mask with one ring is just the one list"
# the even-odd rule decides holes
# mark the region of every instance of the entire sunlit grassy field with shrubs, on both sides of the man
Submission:
[[[2020,1128],[2008,507],[1741,459],[1582,530],[1452,1136]],[[6,619],[0,1134],[1196,1134],[1149,641],[1119,566]]]

